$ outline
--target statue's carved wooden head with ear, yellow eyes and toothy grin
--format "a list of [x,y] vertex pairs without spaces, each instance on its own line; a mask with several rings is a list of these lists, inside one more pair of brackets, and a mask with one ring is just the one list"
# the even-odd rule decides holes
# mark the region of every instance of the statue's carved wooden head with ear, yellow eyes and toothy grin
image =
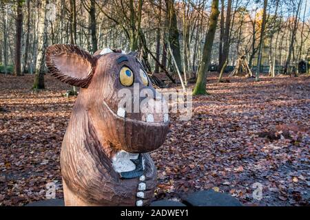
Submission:
[[[143,103],[145,98],[139,96],[143,89],[156,92],[135,56],[109,51],[92,56],[76,45],[52,45],[45,60],[53,76],[82,88],[72,114],[87,112],[107,155],[119,150],[143,153],[163,144],[168,116],[150,110],[162,100],[154,97]],[[132,111],[120,107],[124,97],[120,91],[132,98]],[[134,111],[136,102],[141,106],[138,112]]]

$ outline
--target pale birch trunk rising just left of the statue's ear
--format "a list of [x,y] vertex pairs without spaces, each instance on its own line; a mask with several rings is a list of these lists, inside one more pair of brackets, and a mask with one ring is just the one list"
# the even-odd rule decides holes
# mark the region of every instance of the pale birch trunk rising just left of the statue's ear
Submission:
[[33,89],[45,89],[44,85],[44,72],[45,72],[45,49],[48,44],[48,19],[46,17],[46,5],[48,0],[38,2],[38,54],[34,76]]

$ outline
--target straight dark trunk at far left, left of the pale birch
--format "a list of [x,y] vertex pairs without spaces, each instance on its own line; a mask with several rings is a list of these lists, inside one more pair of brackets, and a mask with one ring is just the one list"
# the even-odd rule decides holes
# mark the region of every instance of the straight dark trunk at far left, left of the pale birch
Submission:
[[23,0],[17,0],[14,75],[21,75],[21,34],[23,32]]

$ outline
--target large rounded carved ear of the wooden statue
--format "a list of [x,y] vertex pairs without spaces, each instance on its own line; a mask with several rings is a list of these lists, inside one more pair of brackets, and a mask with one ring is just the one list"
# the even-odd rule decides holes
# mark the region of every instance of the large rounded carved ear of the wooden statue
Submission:
[[48,70],[61,82],[85,88],[96,69],[96,58],[77,45],[55,44],[46,49]]

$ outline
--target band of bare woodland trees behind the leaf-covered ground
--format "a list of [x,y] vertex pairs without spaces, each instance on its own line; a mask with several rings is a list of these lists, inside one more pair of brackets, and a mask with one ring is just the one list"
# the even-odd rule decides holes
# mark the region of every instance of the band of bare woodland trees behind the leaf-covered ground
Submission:
[[0,72],[37,74],[34,87],[41,88],[45,48],[72,43],[90,53],[139,51],[149,72],[178,78],[178,70],[185,84],[203,56],[205,69],[218,72],[245,55],[252,72],[291,74],[309,62],[309,8],[307,0],[1,0]]

